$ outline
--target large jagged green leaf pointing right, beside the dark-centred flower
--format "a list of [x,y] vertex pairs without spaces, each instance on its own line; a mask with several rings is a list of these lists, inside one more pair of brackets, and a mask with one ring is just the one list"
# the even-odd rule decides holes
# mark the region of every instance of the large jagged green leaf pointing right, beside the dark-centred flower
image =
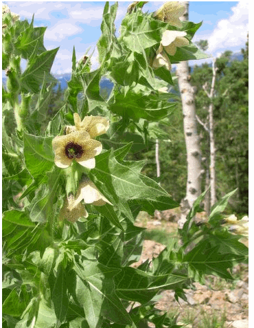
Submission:
[[[178,204],[170,195],[152,179],[141,175],[141,166],[136,162],[123,162],[120,164],[115,159],[113,152],[106,151],[97,156],[96,166],[89,173],[93,182],[105,197],[111,195],[118,204],[118,198],[130,201],[141,199],[141,204],[146,204],[149,211],[154,207],[173,208]],[[99,184],[99,182],[104,184]],[[114,203],[113,199],[108,199]],[[157,208],[157,209],[158,209]]]

